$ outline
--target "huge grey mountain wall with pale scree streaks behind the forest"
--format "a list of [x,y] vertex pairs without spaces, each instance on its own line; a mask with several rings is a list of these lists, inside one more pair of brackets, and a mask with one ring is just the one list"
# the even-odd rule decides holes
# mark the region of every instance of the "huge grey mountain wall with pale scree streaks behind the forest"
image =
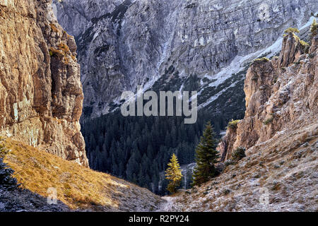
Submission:
[[136,85],[187,89],[191,75],[201,107],[242,117],[249,61],[276,54],[283,30],[318,11],[314,0],[53,2],[78,43],[84,118],[111,111]]

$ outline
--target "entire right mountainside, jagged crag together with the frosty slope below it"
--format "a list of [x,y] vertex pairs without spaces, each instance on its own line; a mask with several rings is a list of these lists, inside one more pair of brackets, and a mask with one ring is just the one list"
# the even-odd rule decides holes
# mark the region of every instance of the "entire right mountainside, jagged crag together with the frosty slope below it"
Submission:
[[225,141],[234,144],[221,150],[246,147],[247,157],[225,161],[219,177],[165,198],[164,210],[318,210],[318,35],[310,49],[302,43],[289,33],[279,57],[249,67],[245,118],[228,129]]

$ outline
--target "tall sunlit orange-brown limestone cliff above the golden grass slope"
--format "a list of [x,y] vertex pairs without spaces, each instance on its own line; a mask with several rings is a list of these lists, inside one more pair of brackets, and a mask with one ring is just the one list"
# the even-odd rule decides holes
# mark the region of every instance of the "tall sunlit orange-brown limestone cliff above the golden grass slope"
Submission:
[[76,44],[51,0],[0,1],[0,135],[88,166]]

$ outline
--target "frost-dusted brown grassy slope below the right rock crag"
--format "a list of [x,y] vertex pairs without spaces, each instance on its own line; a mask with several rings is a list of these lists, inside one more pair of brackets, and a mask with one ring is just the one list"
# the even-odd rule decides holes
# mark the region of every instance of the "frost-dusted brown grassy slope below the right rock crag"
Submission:
[[[163,211],[318,211],[318,137],[303,129],[254,146],[223,174],[174,197]],[[268,191],[269,203],[262,202]],[[265,199],[266,200],[266,199]]]

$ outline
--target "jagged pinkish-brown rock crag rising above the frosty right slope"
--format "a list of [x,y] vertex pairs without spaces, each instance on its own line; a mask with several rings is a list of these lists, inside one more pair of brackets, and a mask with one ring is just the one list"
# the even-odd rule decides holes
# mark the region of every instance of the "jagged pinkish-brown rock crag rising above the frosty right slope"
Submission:
[[227,131],[225,139],[236,138],[223,152],[231,153],[240,146],[248,149],[305,127],[312,129],[307,132],[310,136],[317,135],[317,35],[311,43],[305,53],[299,38],[290,33],[283,39],[279,57],[254,61],[249,67],[244,88],[245,118],[237,124],[237,131]]

